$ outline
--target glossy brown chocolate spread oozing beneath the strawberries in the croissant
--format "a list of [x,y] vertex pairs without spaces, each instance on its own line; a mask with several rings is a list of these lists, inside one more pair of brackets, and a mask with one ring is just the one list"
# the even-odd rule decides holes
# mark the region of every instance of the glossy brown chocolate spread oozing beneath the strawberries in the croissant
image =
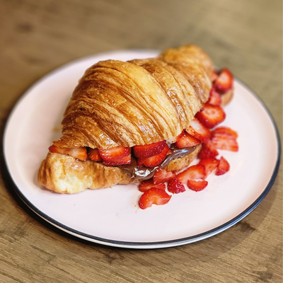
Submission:
[[177,149],[175,147],[171,147],[170,149],[172,153],[168,154],[166,158],[156,167],[145,167],[145,166],[138,167],[137,159],[134,157],[132,157],[132,161],[130,164],[119,165],[117,167],[119,167],[125,173],[131,175],[132,182],[135,182],[137,180],[148,180],[154,176],[154,172],[158,168],[164,168],[168,166],[168,164],[171,161],[173,161],[173,159],[184,157],[187,154],[190,154],[192,151],[194,151],[195,148],[196,146],[186,147],[184,149]]

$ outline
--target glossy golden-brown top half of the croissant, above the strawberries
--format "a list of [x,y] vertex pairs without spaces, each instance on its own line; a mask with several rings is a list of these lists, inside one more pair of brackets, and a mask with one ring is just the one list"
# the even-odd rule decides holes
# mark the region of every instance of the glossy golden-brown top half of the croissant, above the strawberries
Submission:
[[86,70],[64,112],[58,147],[151,144],[177,137],[209,97],[213,65],[195,45]]

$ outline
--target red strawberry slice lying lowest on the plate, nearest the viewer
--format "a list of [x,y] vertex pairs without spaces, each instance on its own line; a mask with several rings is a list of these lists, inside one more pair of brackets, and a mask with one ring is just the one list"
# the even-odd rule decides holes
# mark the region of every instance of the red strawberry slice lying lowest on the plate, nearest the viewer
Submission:
[[169,200],[171,200],[171,195],[168,195],[165,190],[160,190],[153,187],[141,195],[141,198],[139,199],[139,207],[141,209],[146,209],[151,207],[152,204],[166,204],[169,202]]

